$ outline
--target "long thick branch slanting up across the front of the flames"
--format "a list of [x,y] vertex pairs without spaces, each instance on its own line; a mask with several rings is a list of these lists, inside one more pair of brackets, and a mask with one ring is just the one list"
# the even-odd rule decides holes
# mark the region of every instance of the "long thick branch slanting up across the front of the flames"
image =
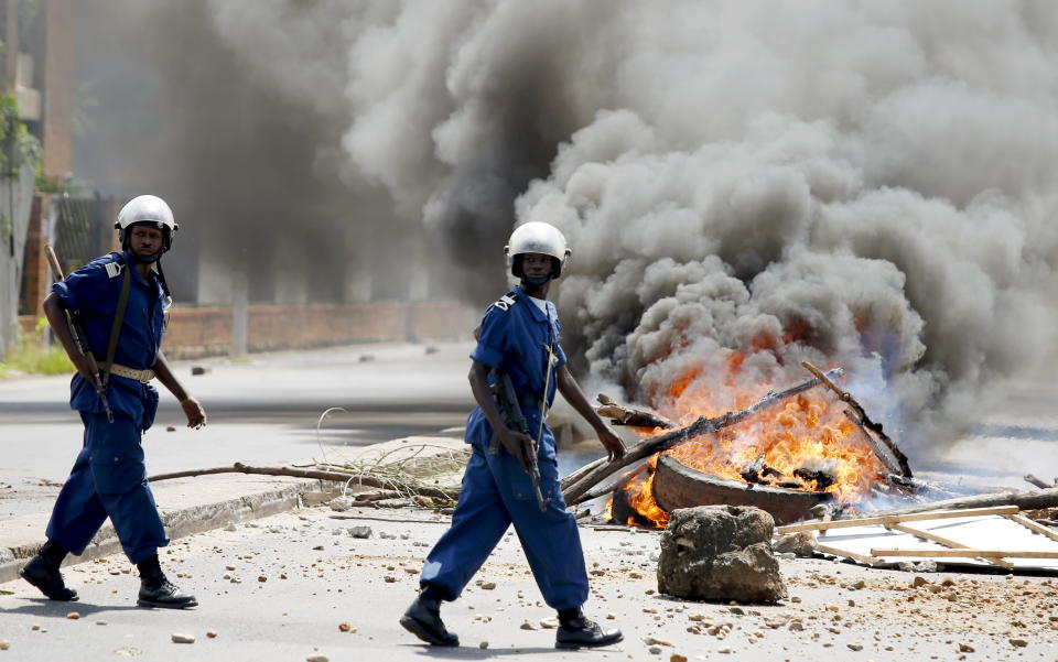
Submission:
[[[827,372],[827,377],[829,378],[841,377],[841,375],[843,375],[843,370],[841,368],[834,368],[833,370]],[[820,383],[822,382],[817,377],[779,393],[776,393],[775,391],[768,391],[764,398],[744,410],[737,412],[727,412],[726,414],[716,416],[715,419],[706,419],[701,416],[685,427],[680,427],[679,430],[667,432],[660,436],[650,437],[639,442],[629,448],[623,457],[612,462],[607,462],[605,457],[601,457],[562,479],[562,496],[565,498],[565,502],[570,506],[580,503],[582,497],[587,492],[587,490],[592,489],[601,480],[614,474],[615,471],[618,471],[633,463],[646,459],[655,453],[660,453],[661,451],[671,448],[679,443],[692,439],[703,434],[716,432],[717,430],[728,427],[735,423],[741,423],[753,414],[778,404],[791,395],[796,395],[813,387],[818,387]],[[575,481],[570,480],[570,478],[574,476],[576,477]]]

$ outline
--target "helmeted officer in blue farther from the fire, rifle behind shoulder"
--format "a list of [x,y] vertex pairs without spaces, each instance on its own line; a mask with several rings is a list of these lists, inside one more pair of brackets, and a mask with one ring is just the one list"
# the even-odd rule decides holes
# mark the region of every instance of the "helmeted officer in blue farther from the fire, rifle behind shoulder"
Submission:
[[[164,308],[171,300],[159,259],[172,246],[177,226],[162,198],[142,195],[121,209],[115,227],[122,252],[78,269],[56,283],[44,300],[44,314],[77,368],[69,404],[80,413],[85,437],[52,510],[47,542],[20,574],[53,600],[76,600],[77,593],[63,582],[60,564],[67,553],[84,553],[109,517],[126,555],[140,571],[138,604],[195,607],[195,597],[173,586],[159,565],[158,547],[169,544],[169,538],[147,481],[140,445],[158,410],[158,391],[148,383],[153,377],[180,401],[190,427],[206,424],[202,405],[180,384],[161,352]],[[66,312],[79,316],[91,352],[85,354],[75,341]],[[121,321],[116,324],[118,316]],[[107,370],[107,361],[100,368],[97,358],[111,358],[115,329],[112,365]],[[97,393],[97,378],[105,384],[110,412]]]

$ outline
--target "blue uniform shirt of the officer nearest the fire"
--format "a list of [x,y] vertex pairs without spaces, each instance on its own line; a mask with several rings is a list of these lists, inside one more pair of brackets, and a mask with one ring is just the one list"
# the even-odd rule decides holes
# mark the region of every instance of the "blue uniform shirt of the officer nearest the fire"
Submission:
[[[548,347],[552,348],[555,356],[548,383],[549,409],[554,400],[558,370],[565,365],[565,352],[559,345],[561,333],[553,303],[547,302],[544,313],[521,287],[515,287],[485,311],[481,337],[471,358],[490,368],[506,370],[522,410],[529,410],[526,411],[527,416],[533,417],[543,397]],[[467,442],[488,443],[492,426],[481,409],[471,413],[466,432]]]

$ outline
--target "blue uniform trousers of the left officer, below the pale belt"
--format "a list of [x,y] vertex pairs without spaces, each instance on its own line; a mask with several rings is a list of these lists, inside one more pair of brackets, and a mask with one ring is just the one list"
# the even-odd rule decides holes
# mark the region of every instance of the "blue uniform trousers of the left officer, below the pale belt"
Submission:
[[110,518],[121,546],[140,563],[169,544],[154,495],[147,482],[141,421],[82,412],[84,447],[52,509],[47,538],[76,555]]

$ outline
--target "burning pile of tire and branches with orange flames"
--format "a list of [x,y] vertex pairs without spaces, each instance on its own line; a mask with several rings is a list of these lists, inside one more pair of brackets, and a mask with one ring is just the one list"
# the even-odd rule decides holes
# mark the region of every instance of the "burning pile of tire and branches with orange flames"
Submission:
[[907,457],[834,383],[843,371],[803,366],[813,379],[721,415],[702,404],[692,412],[698,420],[682,427],[601,395],[601,415],[646,437],[624,466],[646,462],[602,492],[589,490],[606,478],[600,471],[606,465],[589,465],[566,477],[566,500],[612,491],[612,519],[665,527],[672,510],[709,503],[756,506],[782,523],[809,517],[821,503],[839,509],[875,497],[911,498],[919,484]]

